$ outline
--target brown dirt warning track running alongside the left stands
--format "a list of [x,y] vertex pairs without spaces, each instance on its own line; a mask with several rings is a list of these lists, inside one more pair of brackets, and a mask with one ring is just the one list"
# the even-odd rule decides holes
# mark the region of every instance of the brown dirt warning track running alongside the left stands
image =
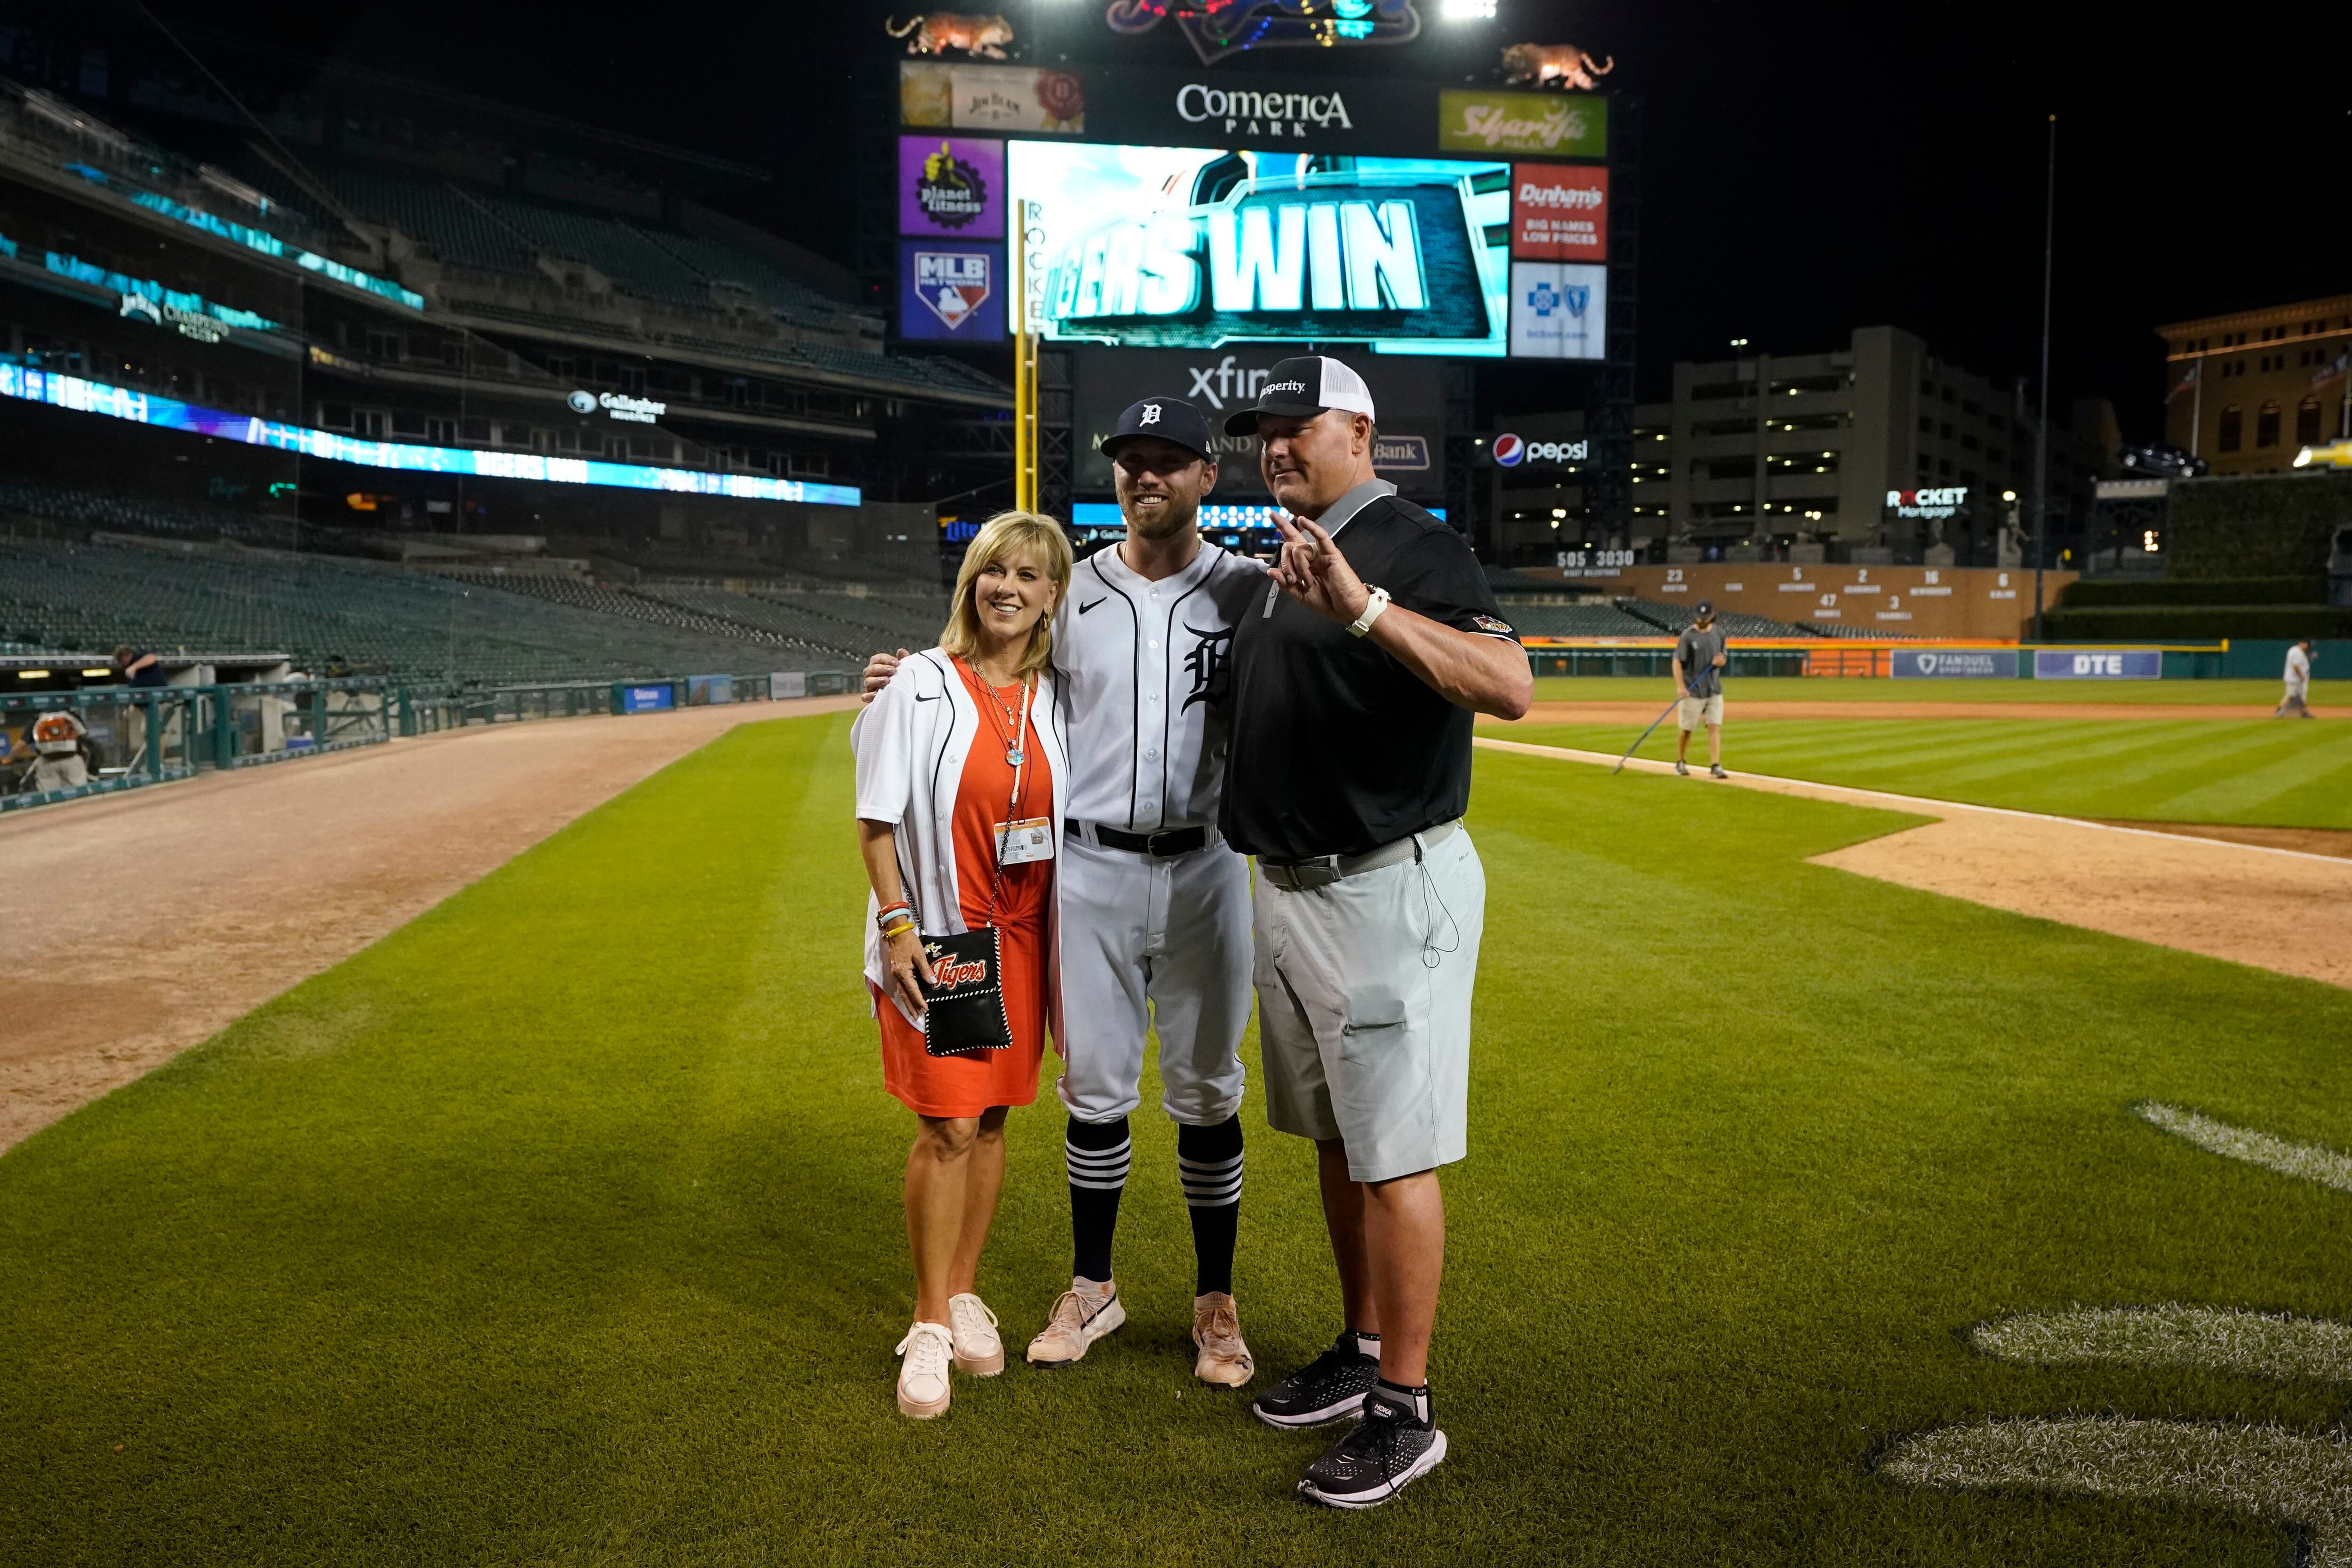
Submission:
[[856,698],[393,741],[0,818],[0,1150],[367,947],[710,738]]

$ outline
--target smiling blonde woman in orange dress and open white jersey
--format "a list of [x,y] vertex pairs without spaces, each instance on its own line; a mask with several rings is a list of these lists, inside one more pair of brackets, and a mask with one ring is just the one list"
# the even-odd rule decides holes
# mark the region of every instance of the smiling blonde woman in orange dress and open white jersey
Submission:
[[[898,1410],[917,1420],[948,1408],[950,1363],[1004,1371],[978,1262],[1004,1187],[1004,1114],[1037,1098],[1054,994],[1068,769],[1049,658],[1068,590],[1070,543],[1049,517],[990,517],[964,552],[938,646],[901,663],[849,731],[882,1086],[920,1121],[906,1159],[915,1326],[898,1342]],[[997,931],[1011,1044],[934,1056],[924,938],[983,926]]]

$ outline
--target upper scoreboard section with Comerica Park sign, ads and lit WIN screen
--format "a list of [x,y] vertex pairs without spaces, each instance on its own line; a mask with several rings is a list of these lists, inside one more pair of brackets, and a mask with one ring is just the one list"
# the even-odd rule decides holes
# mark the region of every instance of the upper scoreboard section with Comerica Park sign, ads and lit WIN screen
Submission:
[[1599,360],[1606,155],[1602,96],[908,61],[898,331]]

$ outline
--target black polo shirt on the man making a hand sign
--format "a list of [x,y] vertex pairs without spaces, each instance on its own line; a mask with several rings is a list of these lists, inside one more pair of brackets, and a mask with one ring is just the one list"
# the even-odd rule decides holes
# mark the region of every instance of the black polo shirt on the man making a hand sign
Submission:
[[[1395,604],[1517,642],[1470,545],[1411,501],[1362,501],[1334,543]],[[1470,710],[1268,583],[1232,635],[1225,839],[1254,856],[1352,856],[1468,809]]]

